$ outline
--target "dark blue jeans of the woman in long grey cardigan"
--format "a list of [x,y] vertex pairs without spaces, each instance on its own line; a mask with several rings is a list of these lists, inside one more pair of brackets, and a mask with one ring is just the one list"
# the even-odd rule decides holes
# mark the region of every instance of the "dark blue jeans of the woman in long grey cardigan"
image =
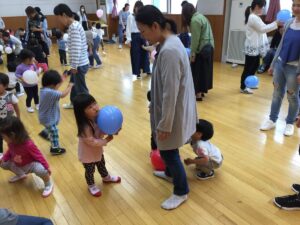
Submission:
[[189,193],[186,173],[180,160],[179,150],[160,151],[160,155],[166,165],[166,175],[173,178],[173,193],[175,195],[185,195]]

